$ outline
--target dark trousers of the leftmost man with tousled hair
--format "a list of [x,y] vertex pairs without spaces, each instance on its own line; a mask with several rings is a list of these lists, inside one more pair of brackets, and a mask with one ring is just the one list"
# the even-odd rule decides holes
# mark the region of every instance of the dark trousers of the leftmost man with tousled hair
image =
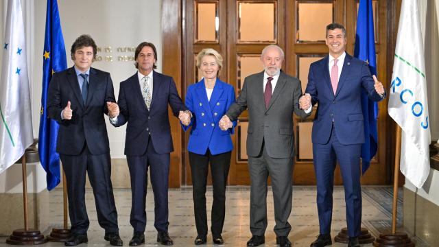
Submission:
[[97,221],[106,233],[117,233],[117,211],[112,193],[110,154],[93,155],[87,145],[79,155],[60,154],[66,174],[71,233],[85,234],[90,222],[85,205],[85,178],[88,174],[95,196]]

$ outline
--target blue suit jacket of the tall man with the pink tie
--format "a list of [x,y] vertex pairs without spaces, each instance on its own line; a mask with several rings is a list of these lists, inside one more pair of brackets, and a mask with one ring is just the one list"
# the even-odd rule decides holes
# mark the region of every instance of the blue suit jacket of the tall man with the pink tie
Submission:
[[375,91],[374,84],[368,64],[346,54],[334,95],[329,75],[329,56],[313,62],[309,67],[305,90],[311,95],[312,104],[318,103],[313,122],[313,143],[325,144],[329,141],[332,121],[340,143],[364,143],[361,90],[366,90],[369,99],[377,102],[381,96]]

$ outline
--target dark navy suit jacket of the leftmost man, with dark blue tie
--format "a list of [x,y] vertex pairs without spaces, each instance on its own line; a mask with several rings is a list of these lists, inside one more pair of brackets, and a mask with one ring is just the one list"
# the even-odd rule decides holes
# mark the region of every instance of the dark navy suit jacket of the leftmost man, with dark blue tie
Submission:
[[[110,152],[104,114],[108,114],[106,102],[116,102],[110,73],[90,68],[86,104],[73,67],[54,73],[47,93],[47,114],[60,124],[56,152],[78,155],[84,143],[91,154]],[[71,102],[73,116],[61,119],[61,111]]]

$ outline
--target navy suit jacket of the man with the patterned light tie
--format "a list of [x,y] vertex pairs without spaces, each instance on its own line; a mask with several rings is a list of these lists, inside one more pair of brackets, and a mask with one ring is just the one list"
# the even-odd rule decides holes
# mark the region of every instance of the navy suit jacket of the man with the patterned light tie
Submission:
[[154,150],[159,154],[174,151],[167,106],[168,104],[171,106],[175,116],[178,116],[180,110],[187,110],[187,108],[178,96],[176,84],[170,76],[154,71],[152,78],[150,110],[143,101],[137,72],[120,84],[117,104],[121,114],[117,117],[117,124],[113,125],[122,126],[128,121],[125,140],[126,155],[145,154],[150,138]]

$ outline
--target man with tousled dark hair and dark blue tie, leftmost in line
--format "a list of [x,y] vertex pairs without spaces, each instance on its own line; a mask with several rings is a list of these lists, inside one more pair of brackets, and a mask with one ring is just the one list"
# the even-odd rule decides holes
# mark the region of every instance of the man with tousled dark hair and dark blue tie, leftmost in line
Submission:
[[[104,113],[115,102],[110,73],[91,68],[97,47],[82,35],[71,46],[75,66],[54,73],[49,84],[47,113],[60,124],[56,152],[67,180],[72,237],[65,245],[88,242],[85,178],[88,173],[96,202],[97,220],[105,239],[121,246],[111,185],[110,146]],[[115,104],[115,103],[112,103]],[[112,117],[112,116],[110,116]]]

